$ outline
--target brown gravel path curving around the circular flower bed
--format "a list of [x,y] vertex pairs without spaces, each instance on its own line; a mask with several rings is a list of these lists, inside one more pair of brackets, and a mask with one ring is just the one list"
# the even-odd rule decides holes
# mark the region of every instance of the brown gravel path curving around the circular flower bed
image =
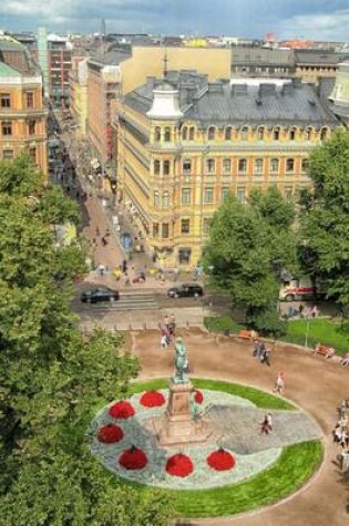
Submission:
[[[315,477],[287,499],[250,514],[193,520],[192,526],[341,526],[349,519],[349,472],[342,474],[331,430],[337,408],[349,396],[349,371],[338,362],[291,347],[273,350],[271,367],[253,358],[250,344],[229,337],[183,330],[193,377],[246,383],[271,392],[278,371],[285,373],[285,396],[307,411],[324,433],[325,461]],[[173,370],[173,350],[163,351],[157,331],[132,333],[132,348],[141,360],[140,379],[166,378]]]

